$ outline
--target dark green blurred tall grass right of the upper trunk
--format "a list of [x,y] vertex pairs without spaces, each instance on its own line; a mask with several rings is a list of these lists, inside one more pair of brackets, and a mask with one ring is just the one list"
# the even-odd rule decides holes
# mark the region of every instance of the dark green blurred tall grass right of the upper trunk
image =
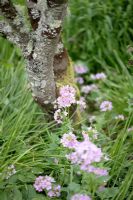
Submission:
[[116,50],[125,62],[133,39],[133,1],[70,0],[65,23],[66,47],[74,60],[83,60],[93,70],[105,62],[114,65]]

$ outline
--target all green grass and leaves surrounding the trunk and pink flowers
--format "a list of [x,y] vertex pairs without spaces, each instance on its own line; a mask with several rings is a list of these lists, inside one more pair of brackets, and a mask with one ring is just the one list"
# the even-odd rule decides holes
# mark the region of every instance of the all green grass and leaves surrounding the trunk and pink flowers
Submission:
[[[133,199],[133,76],[127,65],[126,47],[131,44],[132,1],[70,1],[71,16],[65,24],[65,42],[74,60],[85,61],[90,72],[85,83],[92,83],[90,74],[106,73],[105,81],[97,82],[98,91],[87,96],[88,118],[96,116],[96,144],[109,155],[102,163],[109,169],[107,178],[83,173],[66,160],[68,151],[60,143],[70,130],[70,121],[62,126],[48,122],[47,115],[33,101],[27,85],[24,60],[18,49],[0,39],[0,200],[48,200],[33,188],[39,175],[51,175],[62,186],[60,200],[70,200],[75,193],[90,194],[93,200]],[[117,9],[116,9],[117,8]],[[93,68],[92,68],[93,67]],[[103,114],[99,105],[104,100],[113,109]],[[115,120],[123,114],[124,121]],[[75,133],[80,138],[81,129]],[[58,159],[58,164],[54,159]],[[6,179],[7,168],[15,165],[17,173]],[[98,186],[106,183],[106,189]]]

